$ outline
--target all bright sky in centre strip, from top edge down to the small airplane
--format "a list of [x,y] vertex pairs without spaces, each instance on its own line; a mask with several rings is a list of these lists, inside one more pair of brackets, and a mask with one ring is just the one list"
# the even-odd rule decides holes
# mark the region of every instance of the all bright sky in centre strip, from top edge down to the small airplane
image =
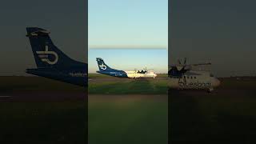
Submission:
[[118,70],[168,71],[168,0],[89,0],[89,73],[96,58]]

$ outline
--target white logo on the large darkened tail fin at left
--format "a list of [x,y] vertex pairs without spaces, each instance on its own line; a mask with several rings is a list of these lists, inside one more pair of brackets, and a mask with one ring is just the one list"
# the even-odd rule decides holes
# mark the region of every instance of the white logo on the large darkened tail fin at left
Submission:
[[[50,65],[54,65],[55,63],[58,62],[58,54],[55,53],[54,51],[49,51],[48,50],[48,46],[46,46],[46,50],[45,51],[36,51],[36,53],[38,54],[38,57],[41,58],[42,62],[47,62]],[[55,59],[54,61],[50,61],[49,54],[53,54]]]

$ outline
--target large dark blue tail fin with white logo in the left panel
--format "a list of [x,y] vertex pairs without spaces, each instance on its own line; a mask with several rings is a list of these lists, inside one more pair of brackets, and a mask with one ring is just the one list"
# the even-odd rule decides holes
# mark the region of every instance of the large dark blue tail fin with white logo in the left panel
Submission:
[[69,58],[50,39],[50,32],[38,27],[27,27],[26,36],[30,38],[30,45],[34,60],[38,68],[58,68],[70,66],[76,62]]

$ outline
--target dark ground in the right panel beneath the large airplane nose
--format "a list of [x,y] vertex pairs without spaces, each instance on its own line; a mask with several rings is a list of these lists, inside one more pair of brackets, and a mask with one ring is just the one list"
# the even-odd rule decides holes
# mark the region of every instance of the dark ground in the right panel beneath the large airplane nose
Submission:
[[256,142],[256,78],[220,78],[213,94],[169,91],[170,142]]

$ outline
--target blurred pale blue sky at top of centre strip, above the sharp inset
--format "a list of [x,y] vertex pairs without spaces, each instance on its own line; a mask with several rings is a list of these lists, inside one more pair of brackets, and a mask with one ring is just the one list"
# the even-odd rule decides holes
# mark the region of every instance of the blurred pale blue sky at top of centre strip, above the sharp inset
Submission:
[[167,48],[168,0],[89,0],[89,48]]

